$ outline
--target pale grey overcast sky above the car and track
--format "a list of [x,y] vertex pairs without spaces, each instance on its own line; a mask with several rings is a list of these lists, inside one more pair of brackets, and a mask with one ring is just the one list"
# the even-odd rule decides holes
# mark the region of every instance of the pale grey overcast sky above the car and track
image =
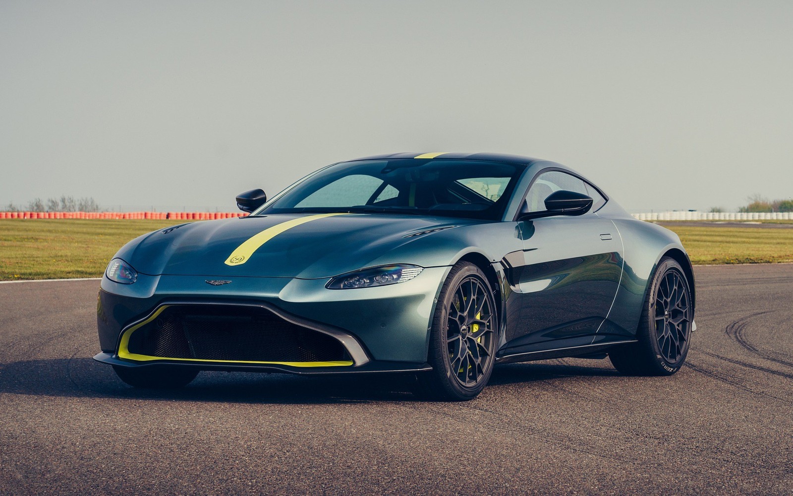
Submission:
[[0,0],[0,206],[232,211],[328,163],[508,152],[626,209],[793,195],[793,2]]

